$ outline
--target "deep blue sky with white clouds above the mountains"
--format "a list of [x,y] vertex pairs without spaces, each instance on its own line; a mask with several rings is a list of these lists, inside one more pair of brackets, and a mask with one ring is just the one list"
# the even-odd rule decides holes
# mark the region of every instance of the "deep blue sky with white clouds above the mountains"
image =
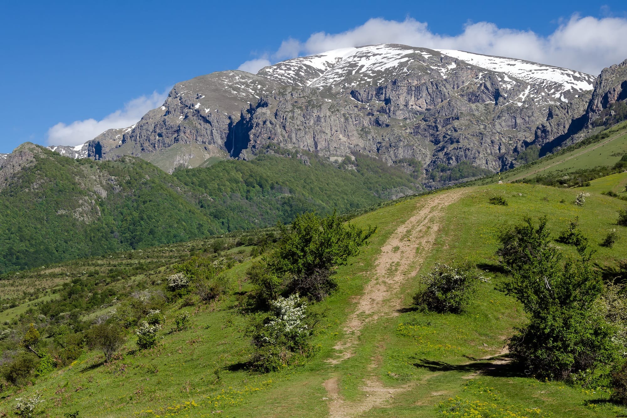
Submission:
[[[624,0],[5,2],[0,153],[24,141],[76,144],[94,130],[127,126],[111,125],[139,119],[176,82],[251,60],[243,68],[407,40],[598,72],[627,58],[623,29]],[[607,45],[597,48],[599,39]]]

